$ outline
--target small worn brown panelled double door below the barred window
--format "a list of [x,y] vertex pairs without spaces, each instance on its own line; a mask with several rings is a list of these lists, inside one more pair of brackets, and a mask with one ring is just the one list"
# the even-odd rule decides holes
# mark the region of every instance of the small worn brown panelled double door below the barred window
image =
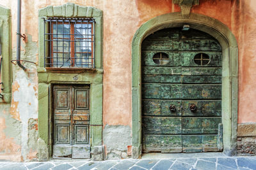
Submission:
[[52,157],[90,158],[90,86],[54,85]]

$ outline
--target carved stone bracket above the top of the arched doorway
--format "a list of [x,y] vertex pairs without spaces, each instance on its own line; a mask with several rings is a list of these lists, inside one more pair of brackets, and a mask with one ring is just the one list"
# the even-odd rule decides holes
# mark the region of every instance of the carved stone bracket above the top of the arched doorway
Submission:
[[179,4],[181,15],[183,18],[188,18],[193,5],[199,5],[199,0],[173,0],[173,4]]

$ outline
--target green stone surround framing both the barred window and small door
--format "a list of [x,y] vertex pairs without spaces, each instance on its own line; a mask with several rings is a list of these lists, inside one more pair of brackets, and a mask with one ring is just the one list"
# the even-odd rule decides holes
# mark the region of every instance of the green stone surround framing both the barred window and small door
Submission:
[[[93,18],[95,20],[95,69],[47,70],[44,67],[44,18]],[[103,159],[102,147],[102,11],[92,6],[66,3],[38,11],[38,160],[52,157],[52,99],[54,84],[90,85],[90,146],[92,160]]]

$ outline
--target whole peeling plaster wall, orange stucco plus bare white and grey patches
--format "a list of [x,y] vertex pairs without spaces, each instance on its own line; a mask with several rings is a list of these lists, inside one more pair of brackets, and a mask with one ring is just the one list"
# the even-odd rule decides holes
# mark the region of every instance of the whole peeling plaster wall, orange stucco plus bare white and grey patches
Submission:
[[[61,5],[67,2],[95,6],[103,11],[103,138],[106,155],[110,157],[115,152],[117,157],[122,157],[122,153],[124,154],[127,148],[112,146],[108,136],[129,134],[121,139],[127,141],[131,139],[132,37],[147,20],[179,11],[179,6],[173,5],[172,0],[22,0],[21,32],[26,33],[28,41],[22,41],[21,59],[38,62],[38,10],[47,5]],[[12,58],[15,59],[17,1],[0,0],[0,4],[11,9]],[[220,20],[236,36],[239,45],[239,123],[256,122],[255,7],[254,0],[200,0],[200,6],[192,9],[194,13]],[[39,150],[46,150],[40,148],[39,143],[42,143],[42,140],[38,139],[36,128],[38,118],[36,66],[24,64],[29,69],[26,73],[18,66],[12,66],[12,103],[0,104],[0,159],[4,160],[37,160],[36,153]],[[117,132],[111,133],[109,129]],[[128,142],[125,145],[130,144]]]

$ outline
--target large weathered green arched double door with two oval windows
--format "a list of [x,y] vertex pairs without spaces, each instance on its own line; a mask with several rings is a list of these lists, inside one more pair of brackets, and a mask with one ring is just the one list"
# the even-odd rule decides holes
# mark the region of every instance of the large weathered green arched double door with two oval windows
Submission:
[[221,46],[195,29],[163,29],[141,45],[142,150],[222,150]]

